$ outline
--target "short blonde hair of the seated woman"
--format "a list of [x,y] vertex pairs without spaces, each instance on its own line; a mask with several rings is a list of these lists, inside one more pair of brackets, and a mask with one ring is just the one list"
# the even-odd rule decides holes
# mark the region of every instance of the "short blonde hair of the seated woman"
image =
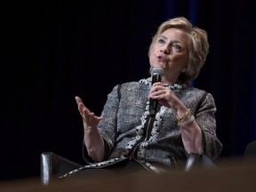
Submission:
[[149,52],[152,45],[156,43],[156,39],[168,28],[179,28],[187,32],[190,36],[191,42],[188,47],[188,69],[186,72],[180,73],[180,76],[178,77],[180,83],[188,83],[198,76],[200,69],[204,66],[204,62],[209,52],[207,33],[202,28],[193,27],[191,22],[184,17],[166,20],[159,26],[156,35],[153,36]]

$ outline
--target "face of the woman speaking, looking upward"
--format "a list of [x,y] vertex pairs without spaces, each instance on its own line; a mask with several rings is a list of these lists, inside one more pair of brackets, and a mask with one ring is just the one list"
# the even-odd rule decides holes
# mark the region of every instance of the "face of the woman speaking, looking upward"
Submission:
[[163,68],[166,80],[175,83],[180,72],[188,67],[188,46],[188,33],[179,28],[168,28],[151,46],[151,68]]

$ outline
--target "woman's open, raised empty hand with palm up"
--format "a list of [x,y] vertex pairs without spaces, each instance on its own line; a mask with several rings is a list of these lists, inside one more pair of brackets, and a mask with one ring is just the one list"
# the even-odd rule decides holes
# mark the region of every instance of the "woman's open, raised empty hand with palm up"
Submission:
[[93,112],[84,106],[83,100],[81,100],[78,96],[76,96],[75,99],[78,111],[83,118],[84,132],[96,129],[103,116],[95,116]]

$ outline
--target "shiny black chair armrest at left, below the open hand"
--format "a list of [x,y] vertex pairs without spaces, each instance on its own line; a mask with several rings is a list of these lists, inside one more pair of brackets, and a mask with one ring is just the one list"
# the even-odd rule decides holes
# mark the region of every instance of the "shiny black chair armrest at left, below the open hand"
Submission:
[[40,176],[44,185],[48,185],[52,178],[70,172],[83,165],[76,164],[63,156],[59,156],[52,152],[43,152],[40,159]]

